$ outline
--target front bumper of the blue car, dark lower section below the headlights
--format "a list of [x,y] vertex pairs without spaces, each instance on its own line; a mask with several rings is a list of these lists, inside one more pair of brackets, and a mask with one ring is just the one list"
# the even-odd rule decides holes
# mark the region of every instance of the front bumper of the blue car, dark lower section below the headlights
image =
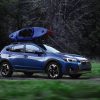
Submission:
[[81,62],[78,64],[70,64],[66,67],[67,74],[84,74],[91,72],[91,63],[90,62]]

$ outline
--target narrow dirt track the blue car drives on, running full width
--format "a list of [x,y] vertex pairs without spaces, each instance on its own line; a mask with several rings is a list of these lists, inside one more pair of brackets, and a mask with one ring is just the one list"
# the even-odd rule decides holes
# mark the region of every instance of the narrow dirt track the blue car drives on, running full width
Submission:
[[[44,74],[34,74],[32,77],[25,77],[24,74],[22,73],[14,73],[12,77],[9,78],[3,78],[0,75],[0,80],[51,80],[48,79],[47,75]],[[85,81],[99,81],[100,82],[100,78],[99,77],[81,77],[79,79],[71,79],[69,76],[63,76],[62,79],[57,79],[57,80],[61,80],[61,81],[70,81],[70,80],[85,80]]]

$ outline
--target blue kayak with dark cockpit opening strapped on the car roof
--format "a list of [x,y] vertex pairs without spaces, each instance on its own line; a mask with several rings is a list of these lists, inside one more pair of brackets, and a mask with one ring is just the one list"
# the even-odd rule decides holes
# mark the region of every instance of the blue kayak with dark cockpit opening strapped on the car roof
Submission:
[[43,37],[44,35],[51,35],[48,29],[43,27],[23,28],[9,35],[9,38],[14,41],[31,41],[36,38]]

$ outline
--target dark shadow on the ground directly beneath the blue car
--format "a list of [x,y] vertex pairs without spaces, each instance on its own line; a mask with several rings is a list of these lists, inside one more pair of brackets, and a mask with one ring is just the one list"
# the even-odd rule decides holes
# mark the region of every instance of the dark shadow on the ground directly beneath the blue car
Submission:
[[[12,77],[2,77],[0,76],[0,79],[10,79],[10,80],[34,80],[34,79],[46,79],[46,80],[51,80],[47,77],[47,75],[45,74],[33,74],[33,76],[31,77],[26,77],[24,74],[22,73],[15,73],[12,75]],[[67,75],[64,75],[61,79],[57,79],[57,80],[88,80],[88,79],[91,79],[91,77],[88,77],[88,76],[82,76],[78,79],[72,79],[71,77],[67,76]]]

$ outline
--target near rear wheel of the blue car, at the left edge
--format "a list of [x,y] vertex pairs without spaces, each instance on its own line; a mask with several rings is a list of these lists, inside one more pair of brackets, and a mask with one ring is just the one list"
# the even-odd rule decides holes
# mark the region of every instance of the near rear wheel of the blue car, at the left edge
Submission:
[[11,77],[13,74],[11,65],[8,62],[2,62],[0,73],[1,73],[1,76],[3,77]]

